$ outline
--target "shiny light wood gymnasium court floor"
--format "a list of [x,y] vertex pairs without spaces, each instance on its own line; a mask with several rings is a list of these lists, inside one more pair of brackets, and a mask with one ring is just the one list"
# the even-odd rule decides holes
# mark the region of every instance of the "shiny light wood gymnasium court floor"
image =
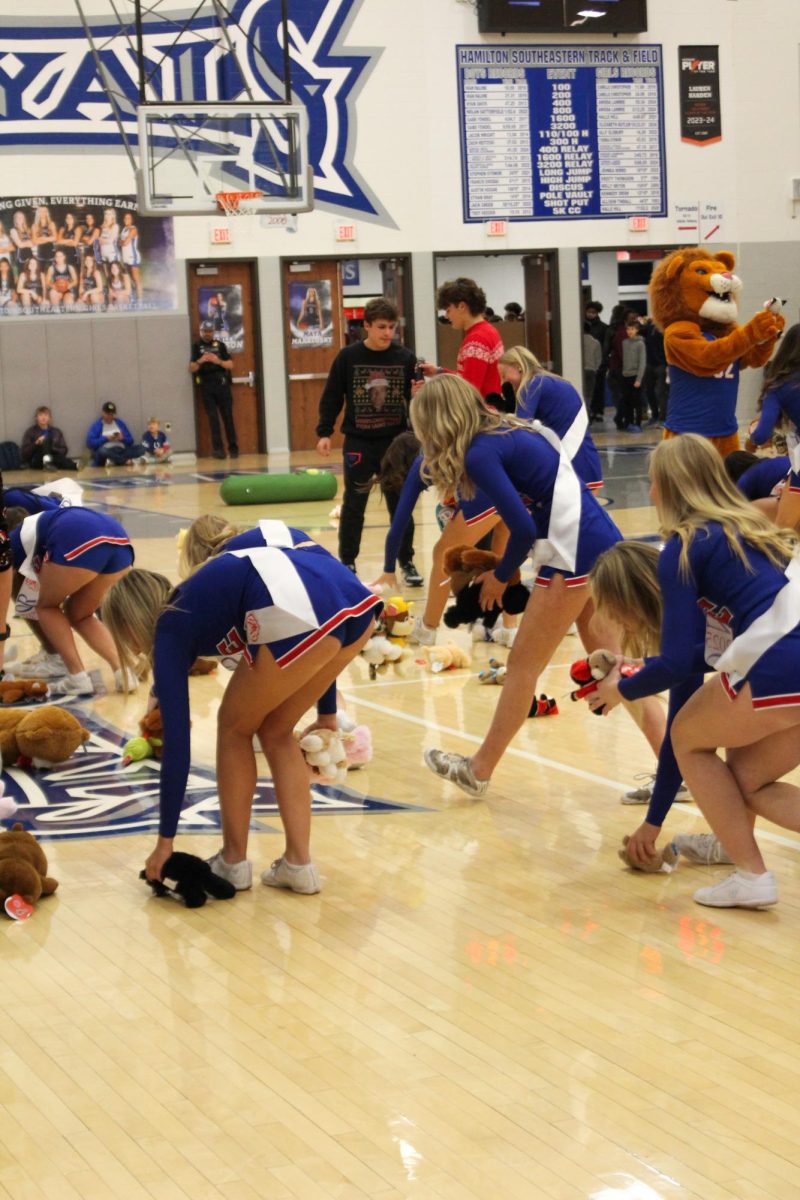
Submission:
[[[645,452],[616,442],[614,515],[654,534]],[[79,478],[138,564],[174,576],[178,528],[223,511],[204,466],[160,486],[131,486],[152,470]],[[279,515],[335,550],[332,503]],[[378,503],[367,523],[372,578]],[[426,500],[420,565],[435,536]],[[359,661],[342,680],[375,757],[349,776],[353,808],[315,818],[318,896],[257,884],[188,911],[138,878],[150,829],[46,842],[58,894],[0,928],[2,1200],[796,1200],[800,839],[762,834],[770,912],[694,905],[724,868],[627,872],[616,847],[644,810],[620,794],[652,758],[624,713],[570,703],[575,637],[540,683],[560,714],[529,721],[489,797],[467,799],[421,756],[480,740],[491,655],[507,652],[374,682]],[[191,685],[198,770],[225,677]],[[143,709],[140,689],[85,712],[132,733]],[[361,794],[399,808],[366,811]],[[692,804],[668,824],[704,828]],[[218,845],[215,829],[180,839]],[[259,820],[257,869],[281,847]]]

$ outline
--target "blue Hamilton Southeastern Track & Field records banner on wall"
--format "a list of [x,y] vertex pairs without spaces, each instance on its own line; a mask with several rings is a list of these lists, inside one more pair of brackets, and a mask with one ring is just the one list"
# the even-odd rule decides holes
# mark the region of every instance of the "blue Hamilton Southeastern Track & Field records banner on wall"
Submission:
[[457,46],[464,221],[667,216],[661,46]]

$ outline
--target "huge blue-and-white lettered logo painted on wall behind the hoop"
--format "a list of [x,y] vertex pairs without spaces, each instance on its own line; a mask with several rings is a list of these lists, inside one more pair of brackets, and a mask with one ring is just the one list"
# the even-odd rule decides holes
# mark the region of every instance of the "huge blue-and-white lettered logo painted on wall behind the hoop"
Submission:
[[[342,46],[362,2],[305,0],[293,5],[291,90],[308,113],[308,154],[317,199],[336,209],[380,216],[379,203],[351,161],[351,104],[379,55],[377,49],[354,53]],[[281,0],[239,0],[231,5],[224,40],[213,19],[203,14],[207,7],[197,7],[200,16],[191,22],[185,36],[176,38],[181,24],[164,17],[148,22],[143,6],[152,98],[164,103],[283,100]],[[128,142],[136,146],[138,64],[133,30],[97,17],[91,19],[91,30],[103,70],[131,102],[130,112],[120,116]],[[85,151],[88,146],[122,149],[113,107],[82,25],[56,19],[18,24],[16,19],[0,29],[1,145],[48,145],[65,151]]]

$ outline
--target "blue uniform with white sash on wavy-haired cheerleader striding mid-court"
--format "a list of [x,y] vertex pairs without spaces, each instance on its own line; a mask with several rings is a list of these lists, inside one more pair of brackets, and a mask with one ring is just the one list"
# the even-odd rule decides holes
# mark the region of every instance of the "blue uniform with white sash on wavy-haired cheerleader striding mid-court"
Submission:
[[578,479],[555,434],[545,426],[479,433],[464,458],[468,478],[494,504],[510,530],[494,574],[507,583],[533,551],[536,583],[553,574],[585,583],[603,550],[621,533]]

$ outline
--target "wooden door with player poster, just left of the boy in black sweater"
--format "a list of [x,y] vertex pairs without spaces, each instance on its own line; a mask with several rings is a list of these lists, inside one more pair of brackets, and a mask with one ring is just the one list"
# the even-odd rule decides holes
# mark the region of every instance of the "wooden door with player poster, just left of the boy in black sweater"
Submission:
[[[341,264],[333,259],[283,264],[283,311],[289,368],[289,442],[317,445],[319,398],[333,359],[344,346]],[[338,422],[337,422],[338,424]],[[332,445],[342,445],[337,432]]]

